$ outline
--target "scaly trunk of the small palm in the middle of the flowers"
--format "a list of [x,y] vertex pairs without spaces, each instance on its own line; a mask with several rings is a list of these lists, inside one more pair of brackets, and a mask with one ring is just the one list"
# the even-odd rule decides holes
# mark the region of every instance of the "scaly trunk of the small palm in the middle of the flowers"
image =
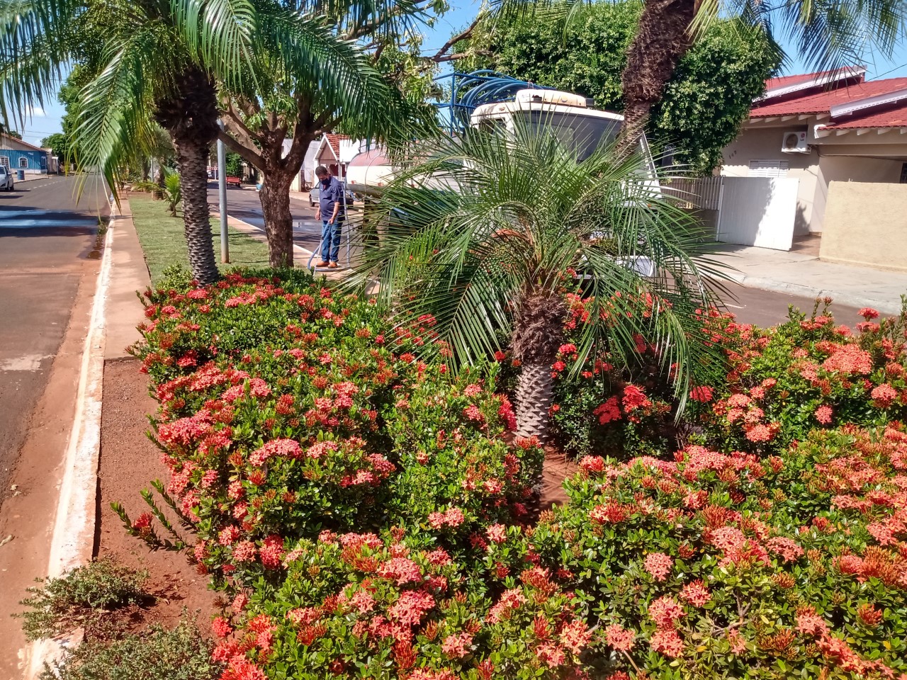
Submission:
[[538,437],[542,443],[551,440],[551,364],[562,344],[566,312],[561,296],[527,291],[513,319],[513,356],[522,364],[516,390],[517,434]]

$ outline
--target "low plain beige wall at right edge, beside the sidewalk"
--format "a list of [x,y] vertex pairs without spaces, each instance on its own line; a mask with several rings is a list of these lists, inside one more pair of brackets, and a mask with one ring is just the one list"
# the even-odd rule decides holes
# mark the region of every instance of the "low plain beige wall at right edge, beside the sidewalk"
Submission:
[[907,271],[907,184],[833,181],[819,257]]

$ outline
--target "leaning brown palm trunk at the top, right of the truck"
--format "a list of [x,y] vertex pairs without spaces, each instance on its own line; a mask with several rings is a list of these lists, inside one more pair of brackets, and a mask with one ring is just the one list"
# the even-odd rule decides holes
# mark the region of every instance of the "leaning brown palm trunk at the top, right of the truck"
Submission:
[[646,0],[620,76],[624,124],[619,151],[636,148],[652,105],[692,43],[689,27],[698,6],[698,0]]

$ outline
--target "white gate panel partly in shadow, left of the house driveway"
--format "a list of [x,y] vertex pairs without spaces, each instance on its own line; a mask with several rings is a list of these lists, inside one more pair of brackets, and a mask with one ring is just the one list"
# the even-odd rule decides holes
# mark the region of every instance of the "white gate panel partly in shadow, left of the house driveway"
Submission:
[[790,250],[800,180],[727,176],[721,180],[717,240]]

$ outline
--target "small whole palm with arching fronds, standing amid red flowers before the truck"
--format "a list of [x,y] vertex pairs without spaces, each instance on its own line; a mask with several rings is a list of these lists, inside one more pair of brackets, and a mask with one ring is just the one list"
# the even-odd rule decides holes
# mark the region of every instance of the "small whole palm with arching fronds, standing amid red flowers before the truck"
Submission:
[[[697,310],[720,277],[694,220],[661,196],[649,161],[602,146],[588,158],[548,128],[469,131],[417,151],[378,199],[383,226],[363,248],[356,283],[377,279],[401,324],[434,316],[458,364],[509,338],[522,363],[518,432],[549,434],[551,364],[564,341],[565,294],[592,297],[580,360],[607,351],[632,361],[644,333],[671,364],[678,395],[695,366],[717,365]],[[648,257],[653,276],[632,263]],[[653,296],[651,309],[640,300]],[[651,298],[649,298],[651,299]],[[581,363],[581,362],[580,362]],[[580,365],[580,364],[577,364]]]

